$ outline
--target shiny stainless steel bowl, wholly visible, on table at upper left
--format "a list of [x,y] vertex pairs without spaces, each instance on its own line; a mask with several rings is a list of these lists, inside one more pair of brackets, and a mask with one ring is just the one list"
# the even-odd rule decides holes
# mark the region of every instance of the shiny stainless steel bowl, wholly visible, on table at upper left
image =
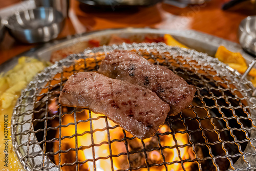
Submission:
[[64,25],[63,15],[51,7],[16,12],[6,22],[14,38],[29,44],[56,38]]

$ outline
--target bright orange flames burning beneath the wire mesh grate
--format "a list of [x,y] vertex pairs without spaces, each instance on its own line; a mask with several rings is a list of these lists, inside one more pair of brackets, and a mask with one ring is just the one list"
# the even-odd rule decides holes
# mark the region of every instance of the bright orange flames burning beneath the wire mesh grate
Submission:
[[[67,125],[70,122],[74,123],[74,114],[67,114],[62,117],[62,125]],[[108,120],[105,121],[105,117],[103,115],[94,114],[91,112],[92,119],[91,124],[93,130],[90,130],[90,120],[89,119],[89,113],[88,110],[84,110],[81,113],[77,113],[77,121],[79,120],[87,120],[86,122],[78,122],[77,124],[77,133],[80,134],[80,136],[77,136],[77,145],[78,147],[82,146],[80,150],[78,150],[78,160],[79,161],[87,161],[84,164],[79,165],[79,170],[94,170],[94,163],[93,163],[93,148],[90,146],[92,143],[94,143],[94,155],[95,155],[95,166],[97,170],[111,170],[112,162],[111,162],[111,154],[110,154],[110,148],[112,149],[112,155],[119,155],[118,157],[112,157],[113,161],[113,168],[114,170],[117,169],[126,169],[129,167],[129,163],[127,161],[127,155],[120,155],[121,153],[126,154],[126,147],[124,144],[124,141],[113,141],[113,140],[120,140],[124,138],[123,130],[121,127],[117,126],[115,129],[113,127],[116,125],[114,122]],[[109,135],[105,129],[106,125],[109,126]],[[93,142],[91,137],[91,132],[93,131]],[[181,130],[182,131],[182,130]],[[170,129],[167,125],[161,126],[160,133],[170,132]],[[75,126],[69,125],[67,127],[62,127],[61,135],[64,136],[72,136],[75,134]],[[129,137],[127,139],[127,146],[128,150],[130,152],[130,160],[131,160],[131,166],[132,167],[138,167],[140,165],[145,165],[145,156],[144,152],[141,150],[143,149],[143,145],[141,140],[138,138],[132,138],[133,136],[126,132],[126,137]],[[56,135],[58,137],[58,135]],[[176,133],[175,138],[177,140],[177,144],[175,143],[173,139],[173,135],[164,135],[159,136],[160,137],[160,144],[162,147],[164,146],[175,146],[175,145],[183,145],[188,143],[187,134],[181,134]],[[112,141],[112,143],[109,145],[108,138]],[[130,139],[131,138],[131,139]],[[102,143],[103,142],[103,143]],[[157,137],[151,137],[147,138],[144,141],[145,146],[148,146],[148,149],[152,147],[159,147]],[[75,137],[73,138],[64,138],[61,140],[62,144],[69,144],[69,148],[75,148]],[[140,153],[131,153],[132,151],[140,151]],[[178,156],[178,149],[180,151],[180,157]],[[147,153],[147,160],[149,164],[153,163],[162,163],[163,157],[162,154],[165,157],[166,162],[173,162],[173,161],[180,161],[180,158],[182,160],[189,159],[189,146],[185,147],[179,147],[179,148],[164,148],[162,152],[160,150],[154,150]],[[62,149],[67,150],[67,149]],[[162,153],[162,154],[161,154]],[[73,155],[74,159],[72,161],[61,161],[61,164],[64,162],[75,162],[75,152],[69,152],[69,153],[62,153],[61,155],[67,156],[67,155]],[[61,158],[62,160],[62,158]],[[189,170],[189,167],[192,163],[191,162],[185,162],[183,163],[183,166],[186,168],[186,170]],[[174,163],[171,165],[166,165],[168,170],[183,170],[181,163]],[[62,167],[66,168],[63,170],[73,170],[73,168],[68,168],[67,166]],[[147,168],[141,168],[139,170],[147,170]],[[150,168],[150,170],[165,170],[165,166],[153,166]]]

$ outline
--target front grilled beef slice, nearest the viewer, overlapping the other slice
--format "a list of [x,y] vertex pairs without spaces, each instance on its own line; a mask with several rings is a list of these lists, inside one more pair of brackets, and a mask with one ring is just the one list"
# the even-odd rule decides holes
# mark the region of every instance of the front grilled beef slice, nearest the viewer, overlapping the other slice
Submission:
[[153,136],[169,112],[169,105],[151,90],[95,72],[72,75],[59,102],[104,114],[140,139]]

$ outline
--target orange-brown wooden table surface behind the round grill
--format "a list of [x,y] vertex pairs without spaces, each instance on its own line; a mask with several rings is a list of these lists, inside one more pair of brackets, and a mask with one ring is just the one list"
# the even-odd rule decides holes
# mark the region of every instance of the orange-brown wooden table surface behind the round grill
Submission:
[[[0,1],[0,8],[20,2],[18,0]],[[158,3],[154,6],[134,10],[117,10],[114,7],[114,11],[92,8],[82,11],[77,1],[71,0],[69,18],[57,38],[99,29],[151,27],[176,30],[194,29],[238,42],[238,26],[247,14],[221,10],[222,5],[227,1],[212,0],[203,5],[188,6],[184,9]],[[0,44],[0,64],[35,46],[37,45],[22,44],[6,32],[3,42]]]

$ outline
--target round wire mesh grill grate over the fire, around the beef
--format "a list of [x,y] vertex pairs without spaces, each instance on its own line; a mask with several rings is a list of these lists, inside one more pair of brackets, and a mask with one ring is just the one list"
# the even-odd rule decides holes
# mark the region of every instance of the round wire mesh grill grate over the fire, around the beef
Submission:
[[[138,140],[103,115],[58,103],[70,75],[96,71],[114,49],[136,51],[197,87],[190,106],[168,116],[150,139]],[[251,83],[238,84],[240,78],[206,54],[161,43],[86,50],[46,68],[22,92],[12,118],[13,145],[27,170],[255,169],[256,99]]]

